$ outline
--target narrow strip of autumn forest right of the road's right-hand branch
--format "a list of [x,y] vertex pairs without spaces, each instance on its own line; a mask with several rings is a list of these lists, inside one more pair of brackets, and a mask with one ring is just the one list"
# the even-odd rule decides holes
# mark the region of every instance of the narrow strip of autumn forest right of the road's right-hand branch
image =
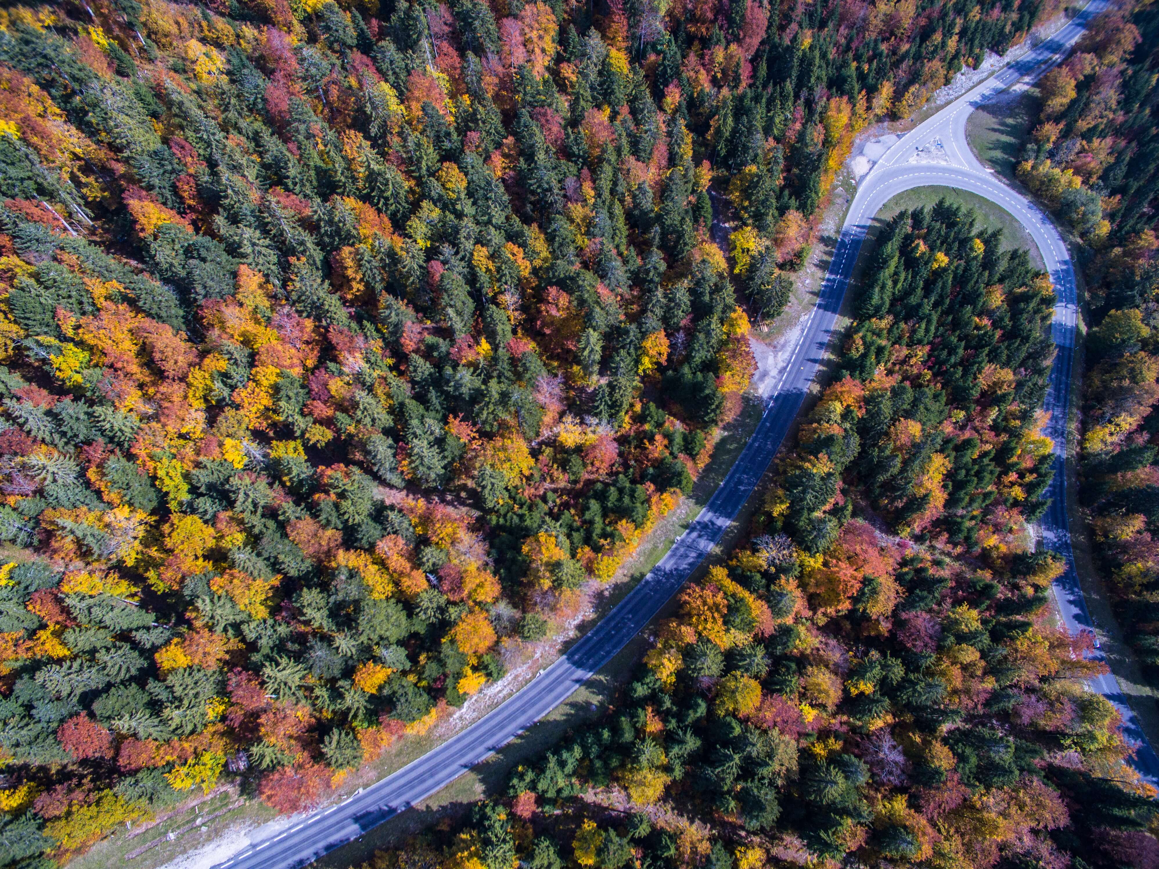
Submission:
[[1073,227],[1092,327],[1080,492],[1128,639],[1159,683],[1159,9],[1103,16],[1041,82],[1019,176]]

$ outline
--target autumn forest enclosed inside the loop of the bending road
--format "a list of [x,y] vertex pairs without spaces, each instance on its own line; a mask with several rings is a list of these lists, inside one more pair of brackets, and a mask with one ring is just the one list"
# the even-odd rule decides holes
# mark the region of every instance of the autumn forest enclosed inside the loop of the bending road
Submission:
[[635,681],[373,869],[1156,864],[1105,665],[1027,545],[1055,296],[999,241],[945,201],[894,218],[844,374]]

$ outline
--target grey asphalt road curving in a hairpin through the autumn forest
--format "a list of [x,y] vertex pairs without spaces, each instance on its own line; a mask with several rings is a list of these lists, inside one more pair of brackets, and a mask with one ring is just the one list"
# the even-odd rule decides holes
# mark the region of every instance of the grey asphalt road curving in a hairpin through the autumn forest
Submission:
[[[1077,632],[1093,627],[1074,572],[1066,523],[1066,408],[1078,313],[1074,270],[1066,246],[1047,216],[1005,187],[972,155],[965,140],[965,120],[976,106],[1020,79],[1033,81],[1057,63],[1081,35],[1086,22],[1106,5],[1106,0],[1093,0],[1051,39],[905,135],[862,179],[816,306],[808,316],[757,430],[685,534],[599,624],[518,694],[443,745],[344,802],[306,816],[290,828],[267,833],[265,838],[218,863],[216,869],[301,867],[345,845],[486,760],[562,703],[610,661],[680,588],[749,499],[780,448],[822,362],[870,220],[888,200],[914,187],[956,187],[1008,210],[1037,244],[1055,282],[1059,302],[1055,309],[1054,338],[1058,353],[1047,410],[1051,412],[1048,434],[1055,441],[1056,473],[1050,488],[1051,507],[1043,519],[1043,536],[1048,545],[1066,558],[1067,570],[1055,584],[1055,594],[1067,629]],[[1107,696],[1123,715],[1128,738],[1137,745],[1135,763],[1139,773],[1159,782],[1159,759],[1143,736],[1115,678],[1106,675],[1091,680],[1091,687]],[[265,830],[254,833],[261,837]]]

